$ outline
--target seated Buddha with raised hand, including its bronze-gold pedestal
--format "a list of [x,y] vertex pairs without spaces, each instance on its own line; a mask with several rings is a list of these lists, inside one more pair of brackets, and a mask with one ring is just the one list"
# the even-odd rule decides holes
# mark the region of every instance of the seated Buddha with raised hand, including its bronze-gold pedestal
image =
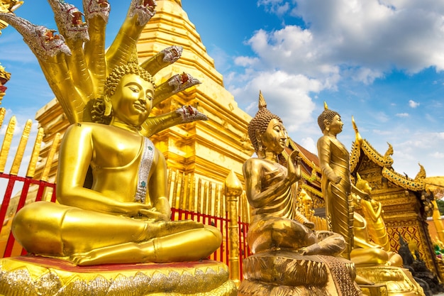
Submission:
[[300,158],[294,151],[284,159],[287,131],[262,94],[248,134],[257,154],[243,166],[252,208],[247,241],[254,255],[243,262],[238,295],[360,295],[355,266],[338,257],[343,237],[313,231],[295,207],[292,187],[301,178]]

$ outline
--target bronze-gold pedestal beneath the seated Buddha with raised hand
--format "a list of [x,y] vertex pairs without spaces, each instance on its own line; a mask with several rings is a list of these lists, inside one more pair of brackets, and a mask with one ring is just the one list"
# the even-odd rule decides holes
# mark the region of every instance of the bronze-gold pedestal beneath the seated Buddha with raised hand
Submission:
[[238,296],[356,296],[355,265],[333,256],[288,251],[256,253],[243,261]]

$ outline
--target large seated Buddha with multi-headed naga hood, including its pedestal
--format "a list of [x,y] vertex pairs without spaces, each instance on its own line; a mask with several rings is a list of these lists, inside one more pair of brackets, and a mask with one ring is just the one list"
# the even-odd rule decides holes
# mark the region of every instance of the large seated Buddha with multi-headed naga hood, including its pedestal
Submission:
[[155,1],[131,2],[106,54],[107,1],[85,0],[86,22],[65,1],[50,4],[62,35],[0,14],[24,35],[73,123],[60,146],[57,203],[28,204],[14,217],[13,234],[31,256],[0,262],[0,294],[235,295],[226,265],[203,260],[221,232],[170,221],[165,158],[148,136],[206,116],[187,106],[150,117],[199,83],[182,74],[155,86],[152,75],[181,48],[138,65],[135,43]]

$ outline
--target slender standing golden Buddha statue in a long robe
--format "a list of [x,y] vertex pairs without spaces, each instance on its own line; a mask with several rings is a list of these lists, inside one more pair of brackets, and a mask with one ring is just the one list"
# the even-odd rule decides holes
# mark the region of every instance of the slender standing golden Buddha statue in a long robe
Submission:
[[323,136],[318,139],[318,158],[321,167],[321,190],[326,202],[328,229],[345,238],[342,256],[350,259],[353,249],[353,197],[352,193],[367,197],[350,181],[350,163],[347,148],[336,137],[343,130],[338,112],[328,109],[318,116]]

